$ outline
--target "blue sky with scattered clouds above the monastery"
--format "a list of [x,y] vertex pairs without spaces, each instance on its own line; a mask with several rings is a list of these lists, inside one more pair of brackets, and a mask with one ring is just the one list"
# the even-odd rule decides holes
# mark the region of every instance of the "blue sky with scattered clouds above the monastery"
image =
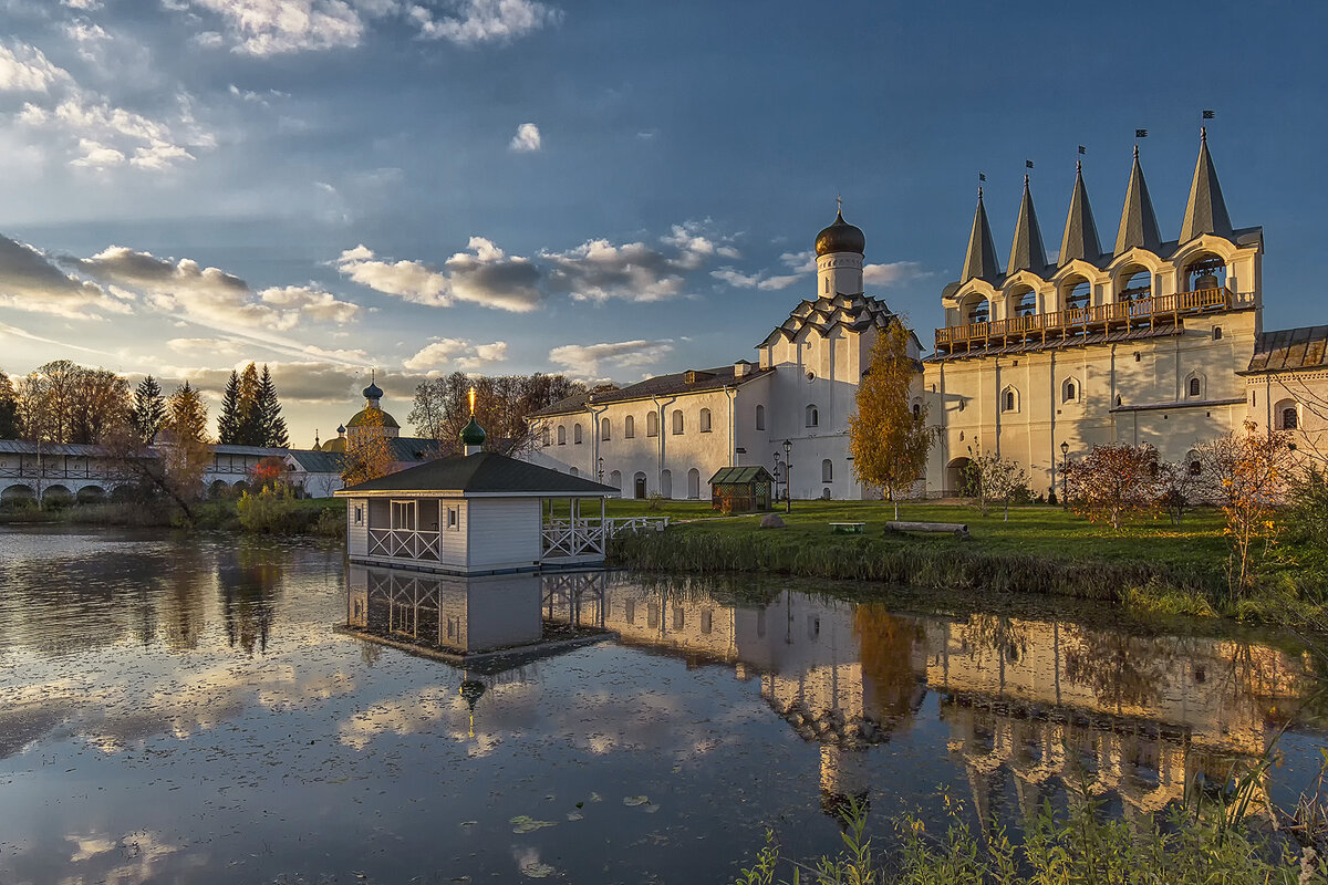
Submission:
[[756,358],[834,219],[931,340],[979,172],[1048,255],[1084,145],[1114,239],[1134,130],[1165,239],[1201,111],[1264,326],[1328,322],[1321,4],[0,0],[0,370],[215,415],[268,364],[292,444],[371,370],[628,383]]

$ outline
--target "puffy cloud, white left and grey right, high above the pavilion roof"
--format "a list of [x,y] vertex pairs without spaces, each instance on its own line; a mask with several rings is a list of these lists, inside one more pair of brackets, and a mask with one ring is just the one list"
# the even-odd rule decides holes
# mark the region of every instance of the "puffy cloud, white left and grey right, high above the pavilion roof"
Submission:
[[333,265],[360,285],[414,304],[469,301],[513,313],[539,306],[539,269],[530,259],[509,257],[481,236],[470,238],[466,248],[448,259],[444,269],[424,261],[384,261],[363,244],[343,252]]

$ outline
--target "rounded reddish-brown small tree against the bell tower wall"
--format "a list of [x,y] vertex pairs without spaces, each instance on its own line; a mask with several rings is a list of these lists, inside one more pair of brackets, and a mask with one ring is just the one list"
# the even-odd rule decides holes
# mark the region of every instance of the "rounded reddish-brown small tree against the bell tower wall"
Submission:
[[1072,511],[1090,521],[1121,528],[1129,513],[1151,513],[1162,498],[1158,450],[1143,443],[1094,446],[1082,460],[1065,467],[1065,490]]

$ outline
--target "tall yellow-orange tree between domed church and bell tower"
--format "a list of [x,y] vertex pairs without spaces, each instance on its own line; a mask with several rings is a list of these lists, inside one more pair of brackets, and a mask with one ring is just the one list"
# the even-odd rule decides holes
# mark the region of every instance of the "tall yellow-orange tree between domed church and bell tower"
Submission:
[[922,475],[927,464],[931,434],[927,409],[915,414],[908,407],[908,385],[914,377],[908,356],[908,330],[892,320],[879,330],[871,348],[871,368],[858,386],[858,414],[849,418],[849,451],[858,482],[879,486],[895,502]]

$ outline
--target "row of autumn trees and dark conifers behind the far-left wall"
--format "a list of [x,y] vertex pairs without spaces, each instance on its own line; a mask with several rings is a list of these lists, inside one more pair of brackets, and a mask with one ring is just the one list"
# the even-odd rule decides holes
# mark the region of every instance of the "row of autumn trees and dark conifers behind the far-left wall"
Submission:
[[[207,409],[187,381],[167,398],[153,375],[130,391],[129,379],[109,369],[56,360],[19,378],[0,372],[0,439],[108,444],[129,430],[150,444],[177,405],[191,413],[202,410],[203,426],[190,422],[189,433],[198,433],[199,442],[210,442]],[[262,372],[252,362],[243,373],[231,372],[216,441],[276,448],[288,444],[276,383],[266,365]]]

